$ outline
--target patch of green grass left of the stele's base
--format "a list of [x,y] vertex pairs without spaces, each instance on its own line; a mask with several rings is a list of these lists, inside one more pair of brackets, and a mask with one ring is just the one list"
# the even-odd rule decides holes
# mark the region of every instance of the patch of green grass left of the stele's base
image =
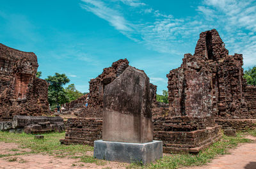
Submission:
[[[22,154],[49,154],[58,158],[74,158],[79,159],[83,163],[95,163],[96,165],[105,165],[106,161],[95,159],[92,156],[86,156],[87,151],[93,151],[93,147],[89,145],[62,145],[61,138],[65,138],[65,133],[46,133],[44,140],[34,139],[35,135],[27,135],[26,133],[8,133],[0,131],[0,142],[18,143],[19,148],[31,149],[30,152],[22,152],[16,154],[0,154],[0,158],[17,156]],[[15,151],[15,149],[12,149]]]

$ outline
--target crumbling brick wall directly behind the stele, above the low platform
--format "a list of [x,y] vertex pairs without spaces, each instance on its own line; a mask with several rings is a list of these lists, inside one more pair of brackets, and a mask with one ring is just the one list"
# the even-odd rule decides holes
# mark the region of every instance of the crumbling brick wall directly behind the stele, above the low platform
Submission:
[[[92,78],[89,82],[89,94],[82,96],[79,99],[66,103],[65,114],[75,113],[78,117],[102,117],[102,101],[104,87],[116,77],[120,76],[123,71],[129,66],[127,59],[120,59],[113,62],[111,67],[104,68],[103,72],[96,78]],[[150,84],[153,102],[156,104],[156,89],[157,86]],[[88,98],[88,107],[84,107]]]

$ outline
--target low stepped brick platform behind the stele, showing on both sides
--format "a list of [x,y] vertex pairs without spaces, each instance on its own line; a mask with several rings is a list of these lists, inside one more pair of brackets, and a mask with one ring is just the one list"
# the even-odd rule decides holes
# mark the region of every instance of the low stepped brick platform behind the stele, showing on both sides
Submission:
[[[187,117],[184,117],[183,121],[186,121],[185,119],[188,120]],[[169,120],[174,124],[171,119]],[[172,130],[169,128],[170,125],[164,124],[164,122],[168,121],[161,121],[161,117],[157,121],[154,119],[154,140],[163,141],[163,151],[166,153],[199,152],[221,137],[220,126],[205,128],[202,125],[201,128],[198,126],[193,131],[170,131]],[[68,119],[65,139],[60,142],[66,145],[87,144],[93,146],[93,142],[100,139],[102,139],[102,118],[74,118]]]

